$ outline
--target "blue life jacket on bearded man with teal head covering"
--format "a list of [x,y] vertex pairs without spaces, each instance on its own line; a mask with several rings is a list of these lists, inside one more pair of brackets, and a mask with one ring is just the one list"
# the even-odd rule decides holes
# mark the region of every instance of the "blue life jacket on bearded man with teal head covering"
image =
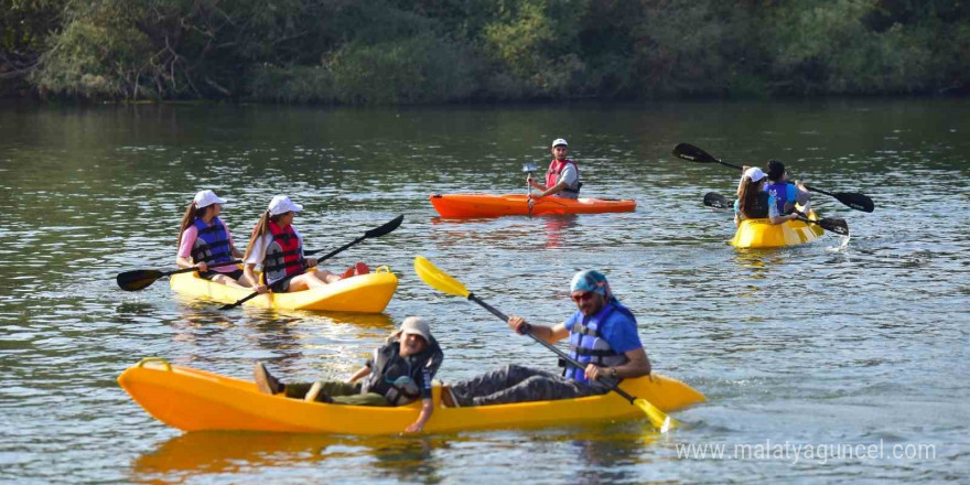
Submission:
[[[582,364],[595,364],[601,367],[615,367],[629,362],[626,355],[614,351],[610,343],[603,338],[603,325],[614,312],[626,315],[636,326],[636,317],[633,312],[619,303],[606,303],[599,313],[589,317],[586,322],[584,322],[586,317],[579,310],[576,311],[576,320],[569,332],[570,357]],[[583,370],[584,368],[567,365],[562,375],[569,379],[586,382]]]

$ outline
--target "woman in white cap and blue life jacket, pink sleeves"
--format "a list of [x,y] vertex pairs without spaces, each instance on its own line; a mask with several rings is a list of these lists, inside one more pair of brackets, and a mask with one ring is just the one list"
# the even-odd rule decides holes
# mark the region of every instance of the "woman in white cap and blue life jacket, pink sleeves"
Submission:
[[[236,265],[216,266],[242,257],[233,244],[229,227],[219,218],[223,204],[213,191],[200,191],[182,217],[179,230],[179,268],[198,268],[198,274],[217,283],[248,288],[242,270]],[[212,269],[209,269],[212,268]]]

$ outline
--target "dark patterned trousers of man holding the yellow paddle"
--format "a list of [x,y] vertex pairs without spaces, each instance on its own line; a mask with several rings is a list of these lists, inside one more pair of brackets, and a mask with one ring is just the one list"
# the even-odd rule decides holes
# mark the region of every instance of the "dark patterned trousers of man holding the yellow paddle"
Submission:
[[580,382],[517,365],[508,365],[450,387],[460,406],[551,401],[601,395],[610,390],[599,384]]

